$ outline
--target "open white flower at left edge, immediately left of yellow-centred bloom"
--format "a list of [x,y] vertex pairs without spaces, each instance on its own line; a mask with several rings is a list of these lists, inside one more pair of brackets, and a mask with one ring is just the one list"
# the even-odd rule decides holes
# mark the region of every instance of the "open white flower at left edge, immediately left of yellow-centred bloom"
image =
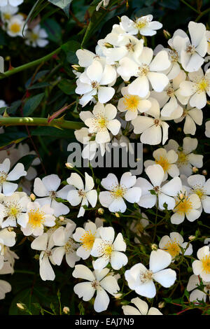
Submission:
[[10,197],[3,197],[3,204],[0,204],[0,217],[1,214],[5,221],[1,223],[1,228],[8,226],[16,227],[17,223],[25,228],[29,221],[27,214],[27,204],[31,201],[26,193],[15,192]]

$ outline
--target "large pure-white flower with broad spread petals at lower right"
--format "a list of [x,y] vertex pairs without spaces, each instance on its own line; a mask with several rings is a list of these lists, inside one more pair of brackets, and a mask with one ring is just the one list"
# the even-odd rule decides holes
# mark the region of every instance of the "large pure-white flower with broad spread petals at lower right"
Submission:
[[130,289],[135,290],[138,295],[153,298],[156,295],[155,283],[165,288],[172,286],[176,280],[174,269],[166,269],[172,262],[172,256],[166,251],[158,249],[152,251],[149,269],[138,263],[125,271],[125,279]]

